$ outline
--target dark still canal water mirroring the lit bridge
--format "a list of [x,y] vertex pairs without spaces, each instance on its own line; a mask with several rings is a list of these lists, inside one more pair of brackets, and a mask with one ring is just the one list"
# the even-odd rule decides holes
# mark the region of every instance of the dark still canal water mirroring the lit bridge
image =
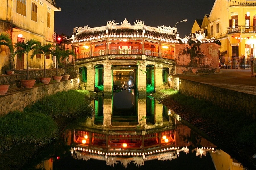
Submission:
[[[115,84],[111,97],[91,102],[92,118],[65,129],[21,169],[242,169],[154,97],[138,97],[132,82]],[[9,154],[29,152],[26,147]]]

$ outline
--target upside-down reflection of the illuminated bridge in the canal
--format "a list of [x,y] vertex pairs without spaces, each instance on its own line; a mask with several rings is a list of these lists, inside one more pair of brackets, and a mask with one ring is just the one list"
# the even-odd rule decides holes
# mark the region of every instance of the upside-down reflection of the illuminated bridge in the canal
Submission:
[[[96,113],[93,118],[84,122],[82,127],[69,133],[69,145],[74,146],[71,149],[74,158],[104,160],[107,165],[120,161],[126,167],[130,162],[141,166],[147,160],[172,160],[179,156],[179,152],[189,153],[189,149],[196,146],[200,146],[194,150],[199,156],[215,152],[212,148],[216,147],[215,145],[194,134],[174,118],[172,111],[165,109],[162,104],[152,102],[152,98],[138,98],[135,105],[136,116],[126,115],[131,117],[124,118],[125,121],[119,124],[113,124],[115,118],[112,113],[112,98],[101,100],[92,103],[102,103],[100,106],[95,105],[95,110],[101,110],[103,116],[97,118]],[[150,105],[147,105],[148,102]],[[148,119],[150,114],[154,116],[154,122]],[[130,124],[134,119],[137,123]],[[150,120],[150,123],[147,123],[147,120]],[[191,134],[196,135],[195,141],[185,137]]]

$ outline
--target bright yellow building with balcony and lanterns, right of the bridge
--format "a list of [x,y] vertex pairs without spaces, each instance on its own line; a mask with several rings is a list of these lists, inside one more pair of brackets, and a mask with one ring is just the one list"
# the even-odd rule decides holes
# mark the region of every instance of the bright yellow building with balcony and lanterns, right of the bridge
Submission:
[[[204,26],[207,23],[204,18],[200,31],[208,39],[220,40],[220,55],[224,56],[228,68],[241,68],[242,55],[246,57],[245,64],[250,65],[250,57],[256,57],[256,2],[215,0],[207,19],[208,25]],[[195,29],[193,25],[192,33]]]

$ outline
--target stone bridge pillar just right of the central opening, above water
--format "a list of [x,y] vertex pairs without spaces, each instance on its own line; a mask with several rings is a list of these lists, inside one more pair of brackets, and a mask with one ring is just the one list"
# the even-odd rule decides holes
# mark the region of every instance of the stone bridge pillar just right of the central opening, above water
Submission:
[[145,64],[139,64],[138,65],[138,81],[137,81],[137,87],[139,91],[139,95],[146,95],[147,93],[147,75],[146,75],[146,65]]

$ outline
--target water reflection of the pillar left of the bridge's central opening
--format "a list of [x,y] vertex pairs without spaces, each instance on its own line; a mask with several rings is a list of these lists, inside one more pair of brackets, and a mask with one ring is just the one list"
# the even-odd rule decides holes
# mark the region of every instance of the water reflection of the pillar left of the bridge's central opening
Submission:
[[103,126],[111,126],[111,115],[112,115],[112,99],[104,98],[103,99]]

